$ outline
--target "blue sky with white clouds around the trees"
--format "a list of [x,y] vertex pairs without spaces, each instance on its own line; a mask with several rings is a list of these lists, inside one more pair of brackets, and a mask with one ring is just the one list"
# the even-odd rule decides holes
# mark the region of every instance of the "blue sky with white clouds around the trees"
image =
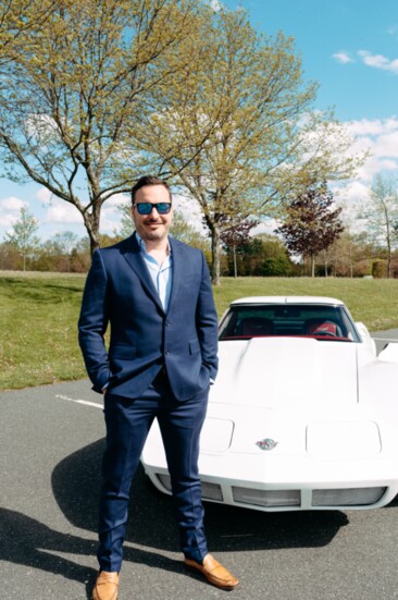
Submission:
[[[209,0],[214,9],[219,0]],[[316,108],[334,108],[357,136],[356,147],[371,157],[348,182],[340,200],[349,206],[366,198],[381,171],[398,175],[398,4],[397,0],[224,0],[249,11],[252,25],[266,35],[283,30],[295,38],[304,78],[316,81]],[[0,241],[26,205],[40,222],[42,238],[70,230],[85,235],[74,207],[53,199],[36,184],[0,180]],[[120,212],[115,198],[103,207],[101,230],[113,233]]]

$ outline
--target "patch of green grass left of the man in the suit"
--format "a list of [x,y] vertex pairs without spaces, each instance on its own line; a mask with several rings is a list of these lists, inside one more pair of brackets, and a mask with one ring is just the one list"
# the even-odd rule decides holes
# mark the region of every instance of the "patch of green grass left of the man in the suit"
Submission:
[[84,275],[0,275],[0,389],[85,377],[77,346]]

